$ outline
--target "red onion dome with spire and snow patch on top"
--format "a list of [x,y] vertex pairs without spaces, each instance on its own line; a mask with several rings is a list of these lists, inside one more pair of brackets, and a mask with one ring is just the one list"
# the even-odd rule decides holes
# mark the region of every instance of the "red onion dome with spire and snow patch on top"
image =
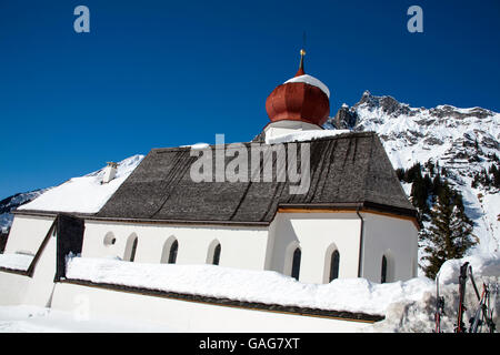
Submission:
[[302,121],[319,126],[327,122],[330,114],[330,91],[318,79],[306,74],[303,57],[300,51],[300,65],[296,77],[277,87],[266,100],[271,122]]

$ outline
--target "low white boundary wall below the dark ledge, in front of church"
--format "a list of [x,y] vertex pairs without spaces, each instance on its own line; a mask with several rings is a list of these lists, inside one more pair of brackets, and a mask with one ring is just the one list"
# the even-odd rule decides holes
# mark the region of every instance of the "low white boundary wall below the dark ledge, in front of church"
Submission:
[[73,313],[80,322],[102,316],[123,317],[168,325],[179,332],[348,333],[370,326],[362,322],[219,306],[67,283],[57,284],[52,306]]

